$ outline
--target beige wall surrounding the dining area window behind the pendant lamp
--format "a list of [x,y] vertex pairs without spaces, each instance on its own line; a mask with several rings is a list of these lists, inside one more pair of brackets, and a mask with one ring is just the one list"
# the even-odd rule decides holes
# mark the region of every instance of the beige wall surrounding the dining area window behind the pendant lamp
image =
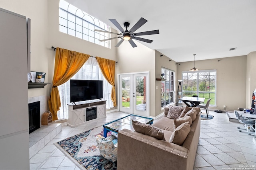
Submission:
[[[181,79],[182,71],[190,70],[194,66],[193,61],[179,64],[177,79]],[[200,70],[217,70],[217,106],[209,107],[210,109],[224,109],[223,105],[229,111],[246,107],[246,56],[195,61],[195,67]]]

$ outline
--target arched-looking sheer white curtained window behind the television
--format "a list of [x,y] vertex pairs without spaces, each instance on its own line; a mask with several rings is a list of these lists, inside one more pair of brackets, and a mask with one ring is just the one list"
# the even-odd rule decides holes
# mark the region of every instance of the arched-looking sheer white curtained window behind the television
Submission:
[[[104,78],[97,60],[94,57],[90,57],[84,66],[71,78],[76,80],[103,80],[103,99],[106,100],[106,109],[113,107],[111,100],[112,86]],[[58,86],[60,93],[61,107],[57,113],[58,119],[68,118],[67,104],[70,103],[70,81]]]

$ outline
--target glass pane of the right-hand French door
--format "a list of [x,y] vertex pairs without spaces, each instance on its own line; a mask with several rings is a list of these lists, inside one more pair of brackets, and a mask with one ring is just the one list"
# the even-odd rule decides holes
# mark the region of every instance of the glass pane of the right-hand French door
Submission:
[[136,109],[146,111],[146,76],[136,76]]

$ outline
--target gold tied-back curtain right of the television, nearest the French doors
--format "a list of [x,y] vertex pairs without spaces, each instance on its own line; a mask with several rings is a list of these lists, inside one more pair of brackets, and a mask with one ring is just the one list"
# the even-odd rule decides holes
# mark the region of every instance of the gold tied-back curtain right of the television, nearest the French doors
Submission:
[[103,76],[112,85],[111,100],[113,102],[113,106],[116,106],[116,89],[115,89],[116,61],[103,59],[100,57],[96,57],[96,59]]

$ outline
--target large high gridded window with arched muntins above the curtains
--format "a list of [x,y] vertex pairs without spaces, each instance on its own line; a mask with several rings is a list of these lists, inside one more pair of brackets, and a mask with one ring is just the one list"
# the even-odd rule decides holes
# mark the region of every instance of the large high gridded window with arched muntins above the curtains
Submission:
[[110,34],[94,31],[94,29],[110,31],[110,26],[106,23],[64,0],[60,0],[59,16],[61,32],[110,48],[110,41],[99,41],[110,38]]

